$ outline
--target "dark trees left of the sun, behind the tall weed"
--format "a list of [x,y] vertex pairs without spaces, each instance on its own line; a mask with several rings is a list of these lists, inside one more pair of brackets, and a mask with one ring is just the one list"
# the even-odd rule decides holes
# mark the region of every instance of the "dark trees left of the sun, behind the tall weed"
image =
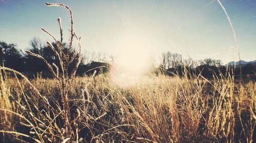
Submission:
[[[52,42],[51,44],[55,49],[57,49],[56,43]],[[64,52],[67,51],[68,45],[66,43],[63,43],[62,46]],[[18,49],[16,44],[7,44],[3,41],[0,41],[0,48],[2,50],[1,66],[5,66],[22,72],[27,76],[34,76],[37,73],[41,73],[42,76],[50,77],[51,74],[47,65],[44,62],[34,56],[27,54],[26,51],[36,53],[42,56],[42,58],[44,58],[45,60],[47,60],[48,63],[54,63],[55,65],[59,66],[59,62],[56,59],[57,56],[55,55],[51,47],[47,43],[41,42],[39,38],[31,39],[30,47],[27,48],[25,51]],[[78,60],[78,53],[75,51],[75,49],[71,50],[69,58],[72,58],[72,56],[75,56],[75,59],[74,62],[70,63],[70,70],[72,70],[75,66],[73,63],[76,63],[76,61]],[[98,62],[94,62],[94,60]],[[96,70],[97,73],[99,73],[100,71],[107,72],[109,67],[110,65],[106,63],[105,53],[92,52],[90,53],[90,56],[87,53],[86,56],[83,56],[83,59],[80,62],[80,65],[77,69],[77,75],[92,74],[94,70]]]

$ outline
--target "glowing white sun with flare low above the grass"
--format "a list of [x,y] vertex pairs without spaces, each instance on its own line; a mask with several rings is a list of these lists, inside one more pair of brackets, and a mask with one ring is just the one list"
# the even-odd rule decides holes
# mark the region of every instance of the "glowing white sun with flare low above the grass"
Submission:
[[141,39],[127,41],[117,52],[116,66],[111,69],[112,81],[127,87],[138,81],[148,69],[149,51]]

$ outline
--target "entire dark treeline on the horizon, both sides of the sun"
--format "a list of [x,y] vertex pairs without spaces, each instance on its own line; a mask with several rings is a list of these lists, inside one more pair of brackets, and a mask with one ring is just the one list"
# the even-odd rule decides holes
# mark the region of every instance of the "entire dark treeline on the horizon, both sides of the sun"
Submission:
[[[54,48],[57,49],[55,43],[51,43]],[[64,51],[68,45],[63,43]],[[49,70],[44,62],[34,56],[28,55],[25,51],[17,48],[16,44],[7,44],[0,41],[0,48],[2,49],[2,63],[1,66],[5,66],[11,69],[15,69],[19,72],[23,72],[27,76],[34,76],[36,73],[42,73],[43,76],[50,76]],[[56,59],[55,53],[51,47],[41,42],[39,38],[32,38],[30,40],[30,47],[26,49],[42,56],[50,64],[54,63],[59,65]],[[77,54],[74,49],[71,50],[70,57]],[[78,55],[74,55],[77,61]],[[155,60],[153,60],[155,61]],[[84,53],[83,59],[77,69],[77,75],[92,74],[94,70],[97,73],[108,72],[111,65],[115,62],[113,55],[106,55],[102,52],[89,52]],[[197,76],[199,74],[204,77],[211,78],[214,76],[226,76],[226,75],[255,75],[256,66],[247,64],[240,70],[240,66],[223,66],[220,60],[204,59],[200,61],[193,61],[191,59],[182,59],[181,54],[172,53],[170,51],[162,53],[160,57],[160,65],[156,63],[149,63],[151,65],[148,73],[164,73],[167,75],[180,75],[184,76],[184,71],[188,73],[186,76]],[[73,66],[70,64],[70,70]]]

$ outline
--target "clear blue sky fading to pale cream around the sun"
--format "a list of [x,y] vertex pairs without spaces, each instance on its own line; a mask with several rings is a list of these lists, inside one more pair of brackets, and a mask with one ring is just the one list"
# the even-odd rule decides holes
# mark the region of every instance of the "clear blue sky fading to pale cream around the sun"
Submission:
[[73,10],[82,51],[106,52],[119,61],[133,59],[135,63],[159,59],[162,52],[170,51],[183,59],[213,58],[226,64],[239,61],[239,48],[242,60],[256,60],[255,0],[220,0],[238,43],[217,0],[0,0],[0,41],[16,43],[24,50],[33,37],[52,40],[41,27],[59,38],[58,17],[67,41],[68,11],[46,7],[46,2],[63,3]]

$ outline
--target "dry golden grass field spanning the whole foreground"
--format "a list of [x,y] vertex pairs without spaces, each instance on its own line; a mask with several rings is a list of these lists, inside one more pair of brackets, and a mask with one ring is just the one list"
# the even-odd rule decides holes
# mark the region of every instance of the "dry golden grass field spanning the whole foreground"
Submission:
[[[2,79],[1,140],[65,140],[57,80],[31,83],[49,105],[26,80]],[[255,136],[254,81],[152,75],[120,88],[102,74],[76,77],[71,89],[69,141],[253,142]]]

